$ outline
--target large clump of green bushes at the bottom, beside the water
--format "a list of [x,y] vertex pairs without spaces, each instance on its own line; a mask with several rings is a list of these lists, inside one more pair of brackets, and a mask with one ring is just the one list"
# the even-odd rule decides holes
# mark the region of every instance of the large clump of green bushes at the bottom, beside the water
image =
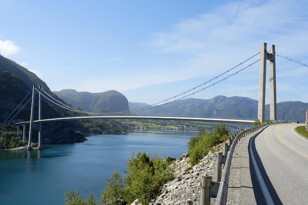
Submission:
[[[134,156],[132,152],[126,164],[125,188],[122,177],[115,171],[111,178],[105,178],[107,186],[102,191],[99,204],[125,205],[126,202],[130,204],[137,198],[141,204],[149,204],[157,197],[162,185],[174,179],[173,170],[169,165],[167,157],[165,159],[150,157],[146,152],[138,152]],[[65,200],[68,200],[65,205],[95,205],[92,195],[86,202],[83,201],[79,190],[65,193]]]

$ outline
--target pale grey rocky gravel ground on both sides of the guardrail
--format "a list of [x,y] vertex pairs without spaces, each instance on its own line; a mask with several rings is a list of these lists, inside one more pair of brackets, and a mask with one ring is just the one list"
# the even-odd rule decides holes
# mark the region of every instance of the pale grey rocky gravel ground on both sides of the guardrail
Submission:
[[[219,150],[222,150],[221,144]],[[234,150],[229,177],[227,205],[241,204],[240,155],[242,144]],[[188,157],[176,160],[176,178],[163,185],[161,194],[151,205],[200,205],[201,176],[212,176],[216,181],[216,153],[209,152],[198,165],[190,168]],[[215,205],[215,198],[211,204]]]

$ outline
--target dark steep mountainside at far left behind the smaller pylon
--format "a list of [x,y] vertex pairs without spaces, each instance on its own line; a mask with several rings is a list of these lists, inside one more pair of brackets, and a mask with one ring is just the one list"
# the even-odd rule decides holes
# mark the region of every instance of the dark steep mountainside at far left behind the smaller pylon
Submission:
[[[10,59],[6,59],[0,55],[0,122],[3,122],[6,118],[8,120],[12,119],[12,123],[17,121],[29,121],[30,120],[30,108],[31,101],[26,103],[25,107],[20,113],[15,115],[24,104],[21,101],[31,92],[32,85],[37,88],[41,85],[48,94],[58,99],[59,101],[64,101],[56,96],[44,83],[39,79],[34,73],[27,70],[26,68],[18,65]],[[29,95],[25,102],[30,99]],[[37,101],[34,109],[34,117],[37,118]],[[14,115],[9,116],[16,107]],[[42,100],[42,118],[49,117],[64,117],[70,116],[68,112],[62,111],[55,106],[50,106],[50,104]],[[84,141],[85,138],[79,134],[76,134],[76,127],[80,126],[77,122],[65,121],[65,122],[53,122],[53,123],[43,123],[42,130],[43,143],[59,143],[59,142],[79,142]],[[37,136],[38,127],[33,126],[33,136]],[[33,138],[33,141],[37,141],[37,138]]]

